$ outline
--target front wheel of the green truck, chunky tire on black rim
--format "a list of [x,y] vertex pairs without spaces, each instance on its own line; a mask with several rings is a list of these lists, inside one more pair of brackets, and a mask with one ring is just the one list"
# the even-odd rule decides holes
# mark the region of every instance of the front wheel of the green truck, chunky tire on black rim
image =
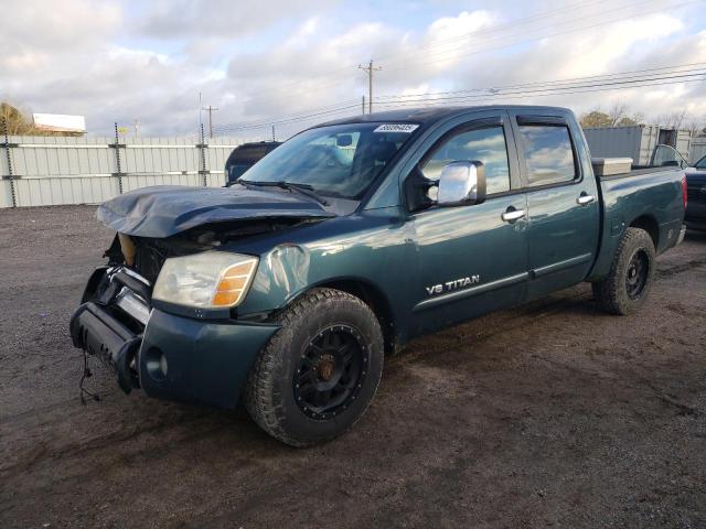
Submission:
[[363,415],[379,384],[384,347],[377,317],[354,295],[313,289],[275,322],[282,327],[248,374],[248,413],[291,446],[341,435]]

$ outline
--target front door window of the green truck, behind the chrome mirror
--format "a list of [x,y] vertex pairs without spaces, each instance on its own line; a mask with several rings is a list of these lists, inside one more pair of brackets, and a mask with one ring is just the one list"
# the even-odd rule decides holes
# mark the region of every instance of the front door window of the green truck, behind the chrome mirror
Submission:
[[474,129],[450,137],[427,160],[421,173],[429,180],[439,180],[445,165],[464,160],[483,162],[489,195],[510,190],[507,145],[502,127]]

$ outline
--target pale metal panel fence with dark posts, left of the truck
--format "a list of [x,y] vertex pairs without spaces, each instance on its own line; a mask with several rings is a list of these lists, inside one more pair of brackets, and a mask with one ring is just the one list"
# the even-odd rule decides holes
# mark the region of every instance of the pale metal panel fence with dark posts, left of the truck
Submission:
[[148,185],[221,186],[232,138],[0,136],[0,207],[95,204]]

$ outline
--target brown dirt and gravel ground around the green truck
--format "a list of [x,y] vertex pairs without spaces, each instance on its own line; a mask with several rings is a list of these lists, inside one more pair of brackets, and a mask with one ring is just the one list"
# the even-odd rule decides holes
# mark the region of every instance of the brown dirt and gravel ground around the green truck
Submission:
[[646,307],[581,285],[414,342],[367,414],[310,450],[243,410],[121,393],[67,323],[111,234],[0,212],[0,527],[706,527],[706,235]]

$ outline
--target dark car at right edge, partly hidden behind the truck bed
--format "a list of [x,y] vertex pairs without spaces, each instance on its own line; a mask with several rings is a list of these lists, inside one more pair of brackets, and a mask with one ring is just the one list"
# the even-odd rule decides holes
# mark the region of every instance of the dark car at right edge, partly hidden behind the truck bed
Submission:
[[691,229],[706,230],[706,156],[689,165],[682,154],[670,145],[657,145],[652,163],[678,166],[685,170],[688,194],[685,222]]

